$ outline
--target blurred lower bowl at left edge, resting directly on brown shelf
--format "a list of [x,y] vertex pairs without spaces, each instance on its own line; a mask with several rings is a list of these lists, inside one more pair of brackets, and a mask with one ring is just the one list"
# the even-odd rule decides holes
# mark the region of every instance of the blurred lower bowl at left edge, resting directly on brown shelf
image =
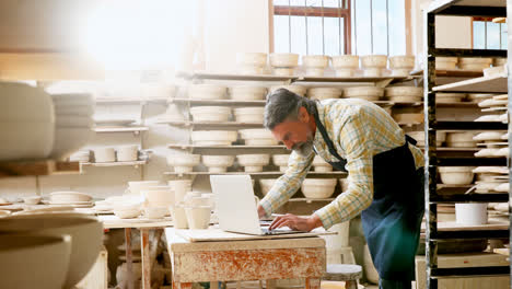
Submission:
[[[3,106],[3,104],[2,104]],[[45,159],[54,147],[54,123],[0,123],[0,161]]]

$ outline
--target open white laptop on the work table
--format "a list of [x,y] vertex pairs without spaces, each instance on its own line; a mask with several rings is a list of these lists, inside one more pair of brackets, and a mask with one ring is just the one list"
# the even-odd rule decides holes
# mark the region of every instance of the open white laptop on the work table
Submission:
[[270,222],[259,221],[249,175],[211,175],[220,229],[252,235],[304,233],[288,227],[269,230]]

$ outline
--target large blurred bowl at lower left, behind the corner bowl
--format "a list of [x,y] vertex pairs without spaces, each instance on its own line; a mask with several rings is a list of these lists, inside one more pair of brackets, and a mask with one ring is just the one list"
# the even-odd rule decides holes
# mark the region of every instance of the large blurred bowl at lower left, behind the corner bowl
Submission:
[[[63,288],[73,288],[89,273],[103,245],[103,223],[96,218],[80,213],[37,213],[5,217],[0,219],[0,232],[71,235],[71,255]],[[51,262],[56,256],[59,254],[44,261],[49,265],[48,262]]]

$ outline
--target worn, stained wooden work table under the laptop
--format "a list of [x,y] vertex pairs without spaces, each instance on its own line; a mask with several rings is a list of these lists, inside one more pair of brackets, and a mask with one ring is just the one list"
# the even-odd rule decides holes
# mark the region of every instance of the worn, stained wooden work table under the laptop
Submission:
[[[203,230],[210,242],[190,242],[181,230],[165,229],[173,268],[173,288],[191,288],[193,282],[305,278],[306,288],[319,288],[326,269],[325,241],[317,236],[222,241],[216,230]],[[183,233],[183,232],[182,232]]]

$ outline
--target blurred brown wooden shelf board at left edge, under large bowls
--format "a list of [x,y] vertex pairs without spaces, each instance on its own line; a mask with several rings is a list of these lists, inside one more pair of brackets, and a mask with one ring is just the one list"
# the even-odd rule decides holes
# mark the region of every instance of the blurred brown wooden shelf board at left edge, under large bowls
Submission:
[[0,178],[57,174],[80,174],[79,162],[60,162],[54,160],[0,162]]

